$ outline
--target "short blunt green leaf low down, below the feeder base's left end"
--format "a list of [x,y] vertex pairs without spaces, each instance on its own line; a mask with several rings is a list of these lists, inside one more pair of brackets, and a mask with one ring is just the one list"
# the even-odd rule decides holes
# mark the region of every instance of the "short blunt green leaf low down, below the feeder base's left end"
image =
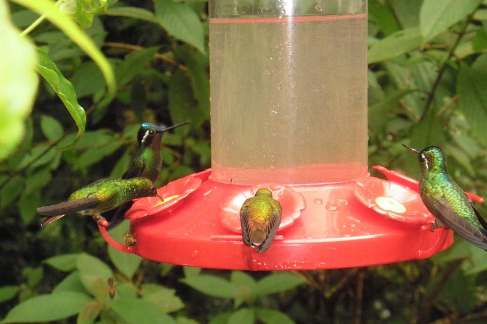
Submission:
[[142,297],[159,306],[164,313],[171,313],[184,308],[181,299],[176,296],[176,291],[156,284],[142,285]]

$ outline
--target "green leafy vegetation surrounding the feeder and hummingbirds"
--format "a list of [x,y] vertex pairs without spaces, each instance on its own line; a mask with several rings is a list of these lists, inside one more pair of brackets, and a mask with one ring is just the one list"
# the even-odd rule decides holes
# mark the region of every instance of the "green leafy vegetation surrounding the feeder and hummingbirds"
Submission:
[[[459,238],[430,260],[246,273],[121,254],[81,217],[40,230],[36,207],[121,176],[141,121],[193,121],[164,136],[158,185],[210,166],[206,12],[0,0],[3,322],[485,323],[487,258]],[[369,164],[417,176],[401,143],[440,145],[455,180],[487,197],[487,1],[369,0],[369,46]]]

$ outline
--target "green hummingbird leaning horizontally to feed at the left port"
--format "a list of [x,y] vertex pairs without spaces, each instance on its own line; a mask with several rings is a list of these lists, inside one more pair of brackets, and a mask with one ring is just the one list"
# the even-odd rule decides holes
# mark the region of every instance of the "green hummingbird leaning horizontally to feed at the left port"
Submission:
[[147,178],[103,178],[76,190],[66,201],[40,207],[37,212],[41,215],[51,216],[41,224],[42,227],[60,219],[65,214],[75,212],[91,215],[98,223],[106,223],[105,218],[101,217],[101,213],[117,208],[132,199],[147,196],[159,196],[153,182]]

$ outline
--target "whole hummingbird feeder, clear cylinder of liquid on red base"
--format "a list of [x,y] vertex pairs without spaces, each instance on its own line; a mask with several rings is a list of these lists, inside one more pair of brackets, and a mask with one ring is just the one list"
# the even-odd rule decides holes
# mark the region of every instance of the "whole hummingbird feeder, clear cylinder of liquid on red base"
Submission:
[[[134,246],[116,249],[204,268],[309,270],[429,258],[453,232],[431,231],[418,182],[367,166],[366,0],[210,0],[212,169],[138,199]],[[283,208],[259,254],[239,210],[258,188]],[[482,199],[471,196],[474,200]]]

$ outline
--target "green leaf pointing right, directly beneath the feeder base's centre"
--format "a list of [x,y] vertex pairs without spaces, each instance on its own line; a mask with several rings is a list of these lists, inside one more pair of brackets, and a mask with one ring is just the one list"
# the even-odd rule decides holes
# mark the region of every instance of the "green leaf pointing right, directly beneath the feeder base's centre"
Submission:
[[254,296],[282,293],[302,284],[304,284],[304,279],[292,272],[274,272],[257,282]]

